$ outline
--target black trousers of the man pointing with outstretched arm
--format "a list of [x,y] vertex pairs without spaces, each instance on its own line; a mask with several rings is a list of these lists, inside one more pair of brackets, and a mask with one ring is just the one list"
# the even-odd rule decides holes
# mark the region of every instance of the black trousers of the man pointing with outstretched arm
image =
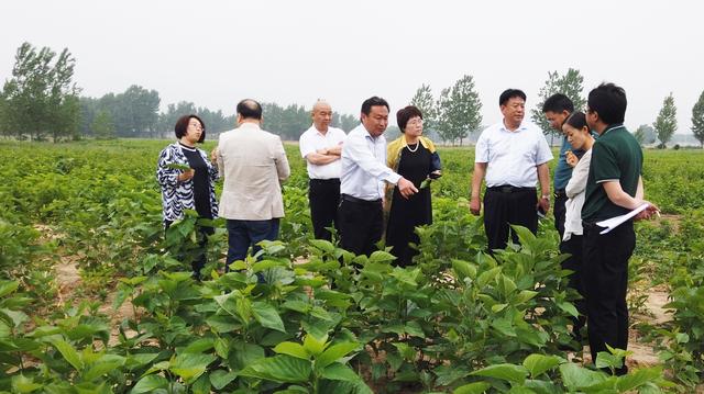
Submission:
[[342,195],[338,210],[340,246],[355,255],[370,256],[384,233],[382,201],[363,201]]

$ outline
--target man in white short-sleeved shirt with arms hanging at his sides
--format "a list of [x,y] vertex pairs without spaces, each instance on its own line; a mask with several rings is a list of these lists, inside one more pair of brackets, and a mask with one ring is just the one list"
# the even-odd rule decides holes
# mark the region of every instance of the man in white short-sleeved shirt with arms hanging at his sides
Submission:
[[[538,126],[524,122],[526,93],[505,90],[498,100],[504,120],[480,136],[472,176],[470,211],[479,215],[482,180],[486,177],[484,194],[484,229],[490,252],[506,248],[509,224],[538,229],[538,212],[550,209],[550,173],[548,161],[552,153]],[[541,196],[536,195],[540,181]],[[514,243],[518,243],[516,234]]]

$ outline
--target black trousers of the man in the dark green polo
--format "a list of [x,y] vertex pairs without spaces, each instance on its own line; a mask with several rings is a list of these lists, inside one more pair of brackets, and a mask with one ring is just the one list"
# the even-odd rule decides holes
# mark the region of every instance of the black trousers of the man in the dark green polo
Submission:
[[[600,351],[628,347],[628,259],[636,247],[634,223],[626,222],[609,233],[584,223],[584,291],[586,292],[587,333],[592,360]],[[624,365],[618,374],[626,373]]]

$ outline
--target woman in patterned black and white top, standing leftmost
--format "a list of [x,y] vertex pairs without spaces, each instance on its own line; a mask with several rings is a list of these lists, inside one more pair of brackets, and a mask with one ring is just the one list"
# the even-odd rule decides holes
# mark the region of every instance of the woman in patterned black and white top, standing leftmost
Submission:
[[[178,142],[168,145],[158,156],[156,179],[162,188],[164,227],[184,218],[184,211],[194,210],[204,218],[216,218],[218,202],[215,181],[218,166],[215,158],[196,147],[206,139],[206,125],[196,115],[178,119],[174,126]],[[212,155],[211,155],[212,156]],[[199,226],[200,249],[193,258],[194,275],[200,278],[206,263],[206,245],[213,228]]]

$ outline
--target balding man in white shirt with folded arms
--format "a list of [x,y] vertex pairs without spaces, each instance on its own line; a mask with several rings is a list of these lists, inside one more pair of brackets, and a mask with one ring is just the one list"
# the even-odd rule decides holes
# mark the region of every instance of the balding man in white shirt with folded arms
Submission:
[[[324,101],[312,106],[312,126],[300,135],[298,147],[308,169],[308,201],[316,239],[332,239],[326,228],[337,225],[340,204],[340,155],[345,134],[331,127],[332,108]],[[339,228],[338,228],[339,229]]]

